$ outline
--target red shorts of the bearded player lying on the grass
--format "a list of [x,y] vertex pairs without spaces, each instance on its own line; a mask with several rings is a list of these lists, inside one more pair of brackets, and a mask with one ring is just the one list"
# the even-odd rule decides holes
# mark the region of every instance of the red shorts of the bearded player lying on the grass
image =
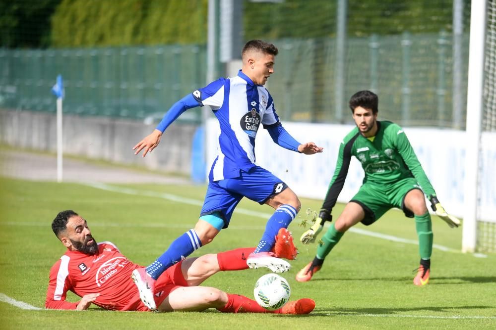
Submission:
[[[183,260],[169,267],[160,277],[157,282],[155,282],[155,304],[160,306],[162,302],[171,294],[175,289],[188,286],[183,272],[181,271],[181,265]],[[138,311],[146,312],[149,311],[148,307],[143,304],[141,299],[139,299],[139,292],[136,290],[136,294],[131,298],[131,303],[127,305],[124,311]]]

